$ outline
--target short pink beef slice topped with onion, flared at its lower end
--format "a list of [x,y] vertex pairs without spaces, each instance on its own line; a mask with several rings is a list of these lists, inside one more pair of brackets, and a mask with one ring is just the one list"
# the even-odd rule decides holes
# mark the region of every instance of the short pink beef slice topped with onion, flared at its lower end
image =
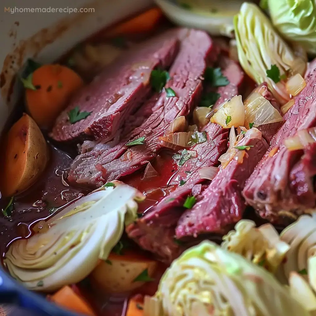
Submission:
[[203,233],[225,234],[241,219],[245,210],[241,191],[268,149],[268,144],[261,137],[261,132],[252,128],[237,146],[253,147],[238,151],[225,168],[220,167],[211,184],[203,191],[202,199],[181,215],[176,228],[177,238],[197,237]]

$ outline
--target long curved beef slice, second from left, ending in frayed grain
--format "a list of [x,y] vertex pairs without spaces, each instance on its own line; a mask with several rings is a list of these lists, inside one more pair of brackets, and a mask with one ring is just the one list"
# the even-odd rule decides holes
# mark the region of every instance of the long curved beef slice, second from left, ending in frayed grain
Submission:
[[[179,54],[170,69],[171,87],[176,96],[167,98],[165,90],[155,101],[152,115],[118,145],[108,150],[92,150],[75,159],[68,177],[71,183],[96,187],[118,179],[143,167],[155,158],[170,123],[177,116],[186,116],[199,102],[202,76],[213,59],[213,43],[207,33],[189,30],[180,45]],[[153,102],[153,100],[149,100]],[[128,140],[145,137],[143,145],[126,146]]]

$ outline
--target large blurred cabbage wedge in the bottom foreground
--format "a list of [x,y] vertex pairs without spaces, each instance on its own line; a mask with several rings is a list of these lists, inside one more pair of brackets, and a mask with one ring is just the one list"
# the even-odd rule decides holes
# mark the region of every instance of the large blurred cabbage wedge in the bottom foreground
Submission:
[[268,271],[204,241],[174,260],[144,316],[308,316]]

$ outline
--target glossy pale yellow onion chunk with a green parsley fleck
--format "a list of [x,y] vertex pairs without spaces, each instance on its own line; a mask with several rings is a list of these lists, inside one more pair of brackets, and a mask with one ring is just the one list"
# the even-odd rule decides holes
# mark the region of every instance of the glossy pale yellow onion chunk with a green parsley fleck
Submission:
[[217,123],[224,128],[244,125],[245,107],[241,95],[235,95],[224,103],[224,105],[211,118],[212,123]]

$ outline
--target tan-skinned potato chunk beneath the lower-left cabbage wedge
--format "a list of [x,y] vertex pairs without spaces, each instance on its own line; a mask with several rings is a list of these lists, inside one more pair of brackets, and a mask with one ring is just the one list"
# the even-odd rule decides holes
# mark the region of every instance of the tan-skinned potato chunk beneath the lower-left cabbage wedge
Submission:
[[[141,287],[146,281],[134,280],[147,269],[149,278],[154,275],[157,262],[135,254],[110,254],[90,274],[91,283],[106,293],[124,293]],[[146,273],[145,273],[146,274]]]

